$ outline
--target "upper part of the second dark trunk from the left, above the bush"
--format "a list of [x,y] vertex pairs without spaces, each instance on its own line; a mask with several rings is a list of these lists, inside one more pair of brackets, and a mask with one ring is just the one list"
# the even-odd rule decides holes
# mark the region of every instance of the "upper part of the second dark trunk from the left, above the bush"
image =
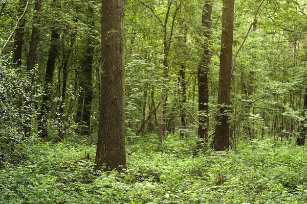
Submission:
[[[35,20],[34,22],[38,24],[40,22],[39,13],[41,10],[41,2],[38,1],[35,3],[34,10],[36,12]],[[28,54],[28,63],[27,63],[27,70],[32,70],[35,65],[36,61],[36,52],[37,52],[37,46],[39,41],[39,29],[37,28],[37,25],[34,25],[34,28],[32,29],[31,34],[31,40],[30,40],[30,49]]]

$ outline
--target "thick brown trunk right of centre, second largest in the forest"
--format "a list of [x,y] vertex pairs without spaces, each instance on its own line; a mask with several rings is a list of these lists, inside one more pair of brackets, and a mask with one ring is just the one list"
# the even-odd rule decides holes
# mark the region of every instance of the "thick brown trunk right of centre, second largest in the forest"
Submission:
[[229,123],[227,109],[230,105],[230,86],[232,69],[233,41],[233,8],[234,0],[223,0],[222,37],[220,55],[220,80],[218,81],[217,115],[214,150],[223,151],[229,148]]

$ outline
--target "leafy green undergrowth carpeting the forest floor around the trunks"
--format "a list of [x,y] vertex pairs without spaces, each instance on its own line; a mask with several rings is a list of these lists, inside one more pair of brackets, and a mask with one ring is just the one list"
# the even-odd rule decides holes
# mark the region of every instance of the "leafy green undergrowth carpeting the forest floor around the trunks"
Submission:
[[[307,203],[307,152],[267,140],[237,151],[199,151],[195,141],[127,139],[128,168],[94,170],[95,145],[38,142],[29,162],[0,170],[0,203]],[[86,154],[90,160],[86,160]]]

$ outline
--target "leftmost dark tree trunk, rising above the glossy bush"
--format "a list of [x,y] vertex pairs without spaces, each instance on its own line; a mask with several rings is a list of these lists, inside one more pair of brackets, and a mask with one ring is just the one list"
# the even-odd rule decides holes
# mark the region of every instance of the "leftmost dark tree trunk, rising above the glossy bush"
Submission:
[[[24,13],[27,1],[19,0],[18,4],[18,13],[17,17],[20,18],[21,15]],[[24,28],[25,27],[25,20],[21,19],[19,21],[20,25],[19,28],[15,31],[15,38],[14,38],[14,53],[13,53],[13,63],[19,67],[21,66],[21,53],[23,50],[23,41],[24,41]]]

